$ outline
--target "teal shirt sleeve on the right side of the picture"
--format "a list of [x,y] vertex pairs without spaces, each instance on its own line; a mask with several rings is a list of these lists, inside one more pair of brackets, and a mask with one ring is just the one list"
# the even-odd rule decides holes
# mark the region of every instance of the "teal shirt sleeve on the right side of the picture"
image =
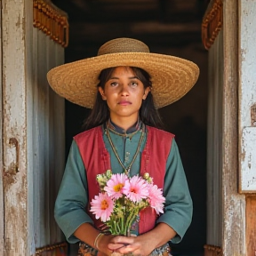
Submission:
[[166,163],[163,192],[165,196],[164,214],[159,217],[157,223],[164,222],[172,227],[177,233],[172,238],[172,243],[178,244],[191,223],[193,204],[179,149],[174,139]]

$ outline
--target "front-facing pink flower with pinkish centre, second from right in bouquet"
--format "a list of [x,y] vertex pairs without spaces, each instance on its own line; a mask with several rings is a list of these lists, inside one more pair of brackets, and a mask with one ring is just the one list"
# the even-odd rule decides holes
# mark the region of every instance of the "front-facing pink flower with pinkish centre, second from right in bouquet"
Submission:
[[148,183],[138,175],[133,176],[130,182],[124,185],[124,194],[134,203],[148,196]]

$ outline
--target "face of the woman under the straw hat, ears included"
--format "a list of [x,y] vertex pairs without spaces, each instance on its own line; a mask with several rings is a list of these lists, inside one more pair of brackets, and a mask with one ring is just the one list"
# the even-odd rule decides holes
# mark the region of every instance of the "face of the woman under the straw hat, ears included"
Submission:
[[117,67],[112,72],[104,89],[99,87],[102,100],[107,100],[110,118],[115,123],[121,117],[138,119],[142,100],[145,100],[149,87],[146,89],[133,73],[132,68]]

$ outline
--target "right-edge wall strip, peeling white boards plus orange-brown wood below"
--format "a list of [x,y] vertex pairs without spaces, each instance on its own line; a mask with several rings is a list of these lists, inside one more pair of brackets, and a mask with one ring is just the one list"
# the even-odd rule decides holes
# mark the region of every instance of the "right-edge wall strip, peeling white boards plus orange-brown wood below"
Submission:
[[256,3],[238,1],[239,8],[239,192],[246,196],[245,251],[256,255]]

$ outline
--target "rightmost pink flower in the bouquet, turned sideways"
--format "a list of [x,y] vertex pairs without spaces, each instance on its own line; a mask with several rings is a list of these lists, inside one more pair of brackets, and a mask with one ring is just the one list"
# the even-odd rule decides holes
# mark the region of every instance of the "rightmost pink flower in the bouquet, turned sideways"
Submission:
[[161,188],[157,188],[156,185],[148,184],[148,202],[152,208],[156,210],[156,214],[164,213],[164,202],[163,191]]

